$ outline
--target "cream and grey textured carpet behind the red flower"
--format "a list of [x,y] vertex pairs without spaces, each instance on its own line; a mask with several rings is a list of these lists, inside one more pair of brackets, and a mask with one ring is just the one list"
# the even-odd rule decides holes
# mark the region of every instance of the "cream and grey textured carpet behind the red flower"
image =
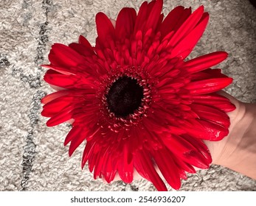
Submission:
[[[153,191],[146,180],[110,185],[80,169],[83,146],[69,158],[63,146],[69,125],[47,128],[40,100],[53,90],[42,80],[52,43],[68,44],[80,34],[94,43],[94,16],[116,18],[122,7],[142,1],[1,0],[0,3],[0,191]],[[195,10],[204,4],[210,24],[190,57],[224,50],[221,63],[234,78],[227,91],[244,102],[256,100],[256,10],[246,0],[168,0],[164,13],[177,5]],[[169,188],[171,190],[171,188]],[[181,191],[256,191],[256,181],[212,166],[189,175]]]

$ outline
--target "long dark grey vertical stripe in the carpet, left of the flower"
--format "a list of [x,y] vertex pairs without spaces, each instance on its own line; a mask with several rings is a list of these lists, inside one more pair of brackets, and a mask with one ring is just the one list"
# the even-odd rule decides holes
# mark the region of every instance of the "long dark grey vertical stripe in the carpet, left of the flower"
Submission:
[[[25,2],[25,1],[24,1]],[[27,3],[28,4],[28,3]],[[24,5],[27,5],[24,3]],[[38,47],[36,48],[37,54],[35,57],[35,65],[38,65],[38,71],[33,77],[31,74],[28,76],[21,74],[21,81],[28,82],[30,84],[30,88],[38,89],[41,87],[41,76],[43,74],[43,70],[41,68],[42,63],[44,63],[44,51],[46,50],[46,43],[49,41],[47,35],[47,25],[48,25],[48,18],[47,15],[49,13],[50,7],[52,6],[52,1],[44,0],[42,1],[42,8],[45,10],[45,22],[40,24],[39,30],[39,38],[38,38]],[[37,125],[39,121],[39,110],[41,109],[41,99],[46,95],[46,93],[42,90],[37,90],[35,95],[32,98],[32,108],[30,109],[29,118],[30,118],[30,125],[27,128],[28,135],[26,137],[26,145],[24,146],[24,154],[23,160],[21,165],[23,166],[23,178],[21,180],[21,191],[27,190],[27,182],[30,179],[30,173],[32,171],[33,160],[35,158],[35,143],[33,141],[34,134],[37,131]]]

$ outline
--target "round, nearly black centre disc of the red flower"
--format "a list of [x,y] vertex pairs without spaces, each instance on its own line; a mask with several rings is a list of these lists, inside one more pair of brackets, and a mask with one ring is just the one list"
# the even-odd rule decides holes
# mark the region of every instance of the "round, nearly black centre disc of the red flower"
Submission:
[[141,105],[143,88],[136,79],[120,77],[117,79],[106,95],[108,109],[117,117],[126,117],[133,114]]

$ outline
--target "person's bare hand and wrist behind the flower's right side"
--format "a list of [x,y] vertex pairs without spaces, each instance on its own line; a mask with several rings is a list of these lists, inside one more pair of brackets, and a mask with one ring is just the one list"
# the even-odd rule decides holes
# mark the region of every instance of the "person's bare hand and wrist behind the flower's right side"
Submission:
[[256,180],[256,104],[243,103],[221,92],[235,104],[228,113],[229,135],[222,141],[205,141],[212,154],[212,163],[238,171]]

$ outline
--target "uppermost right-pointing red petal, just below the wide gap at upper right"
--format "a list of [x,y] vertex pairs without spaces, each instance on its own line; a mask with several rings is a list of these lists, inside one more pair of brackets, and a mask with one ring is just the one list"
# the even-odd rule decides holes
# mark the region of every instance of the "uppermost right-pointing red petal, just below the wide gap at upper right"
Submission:
[[197,57],[193,60],[185,62],[184,68],[186,68],[190,73],[202,71],[212,67],[213,65],[221,63],[226,59],[227,55],[228,54],[225,51],[212,52],[210,54],[206,54],[204,56]]

